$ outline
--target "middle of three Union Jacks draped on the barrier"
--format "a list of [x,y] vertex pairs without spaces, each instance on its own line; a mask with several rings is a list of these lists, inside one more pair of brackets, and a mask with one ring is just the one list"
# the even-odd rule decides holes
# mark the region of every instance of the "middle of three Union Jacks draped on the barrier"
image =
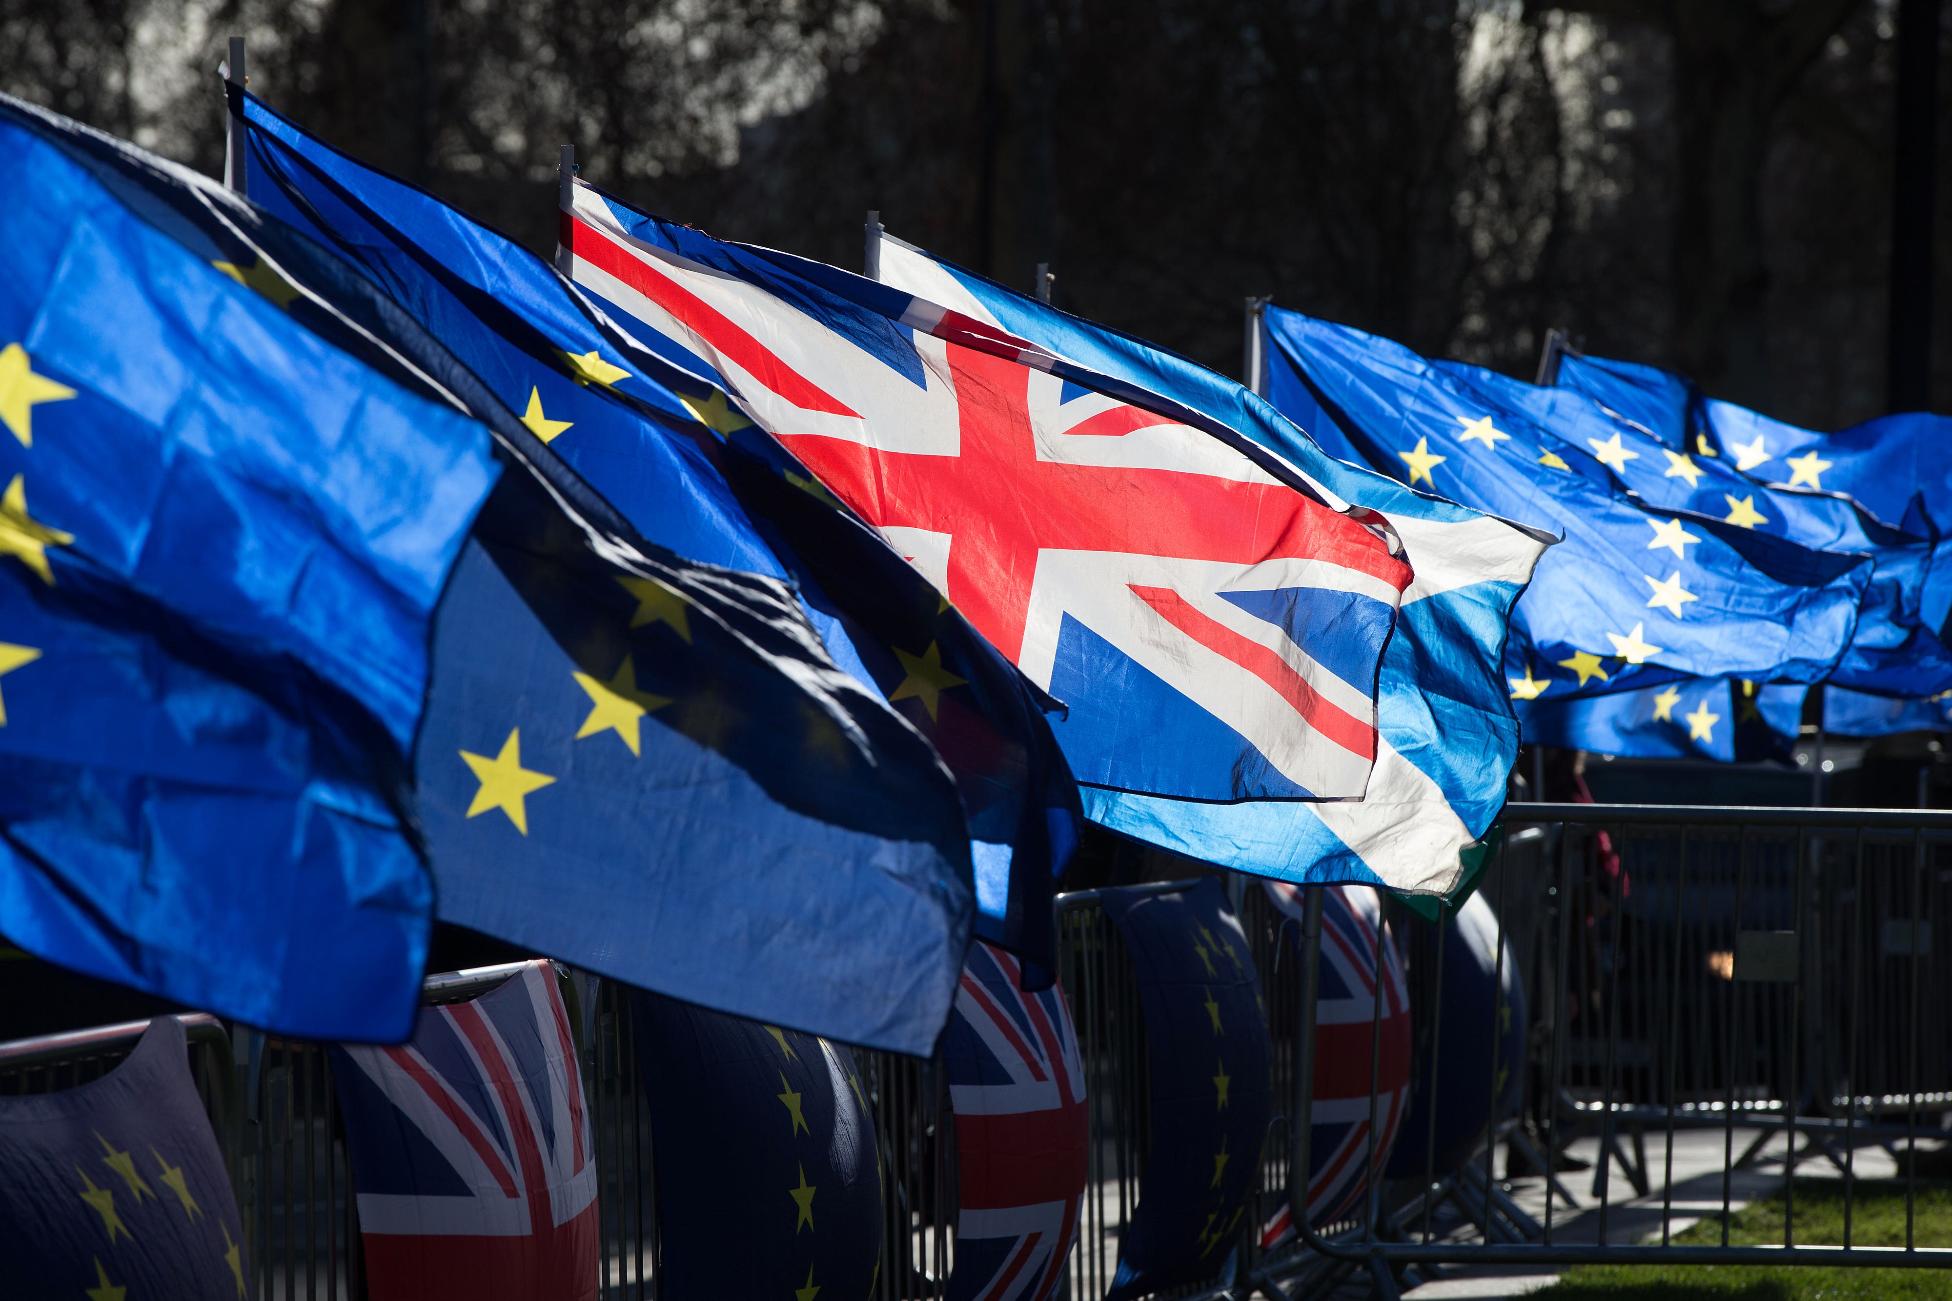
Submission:
[[1021,964],[970,946],[943,1034],[960,1215],[951,1301],[1056,1295],[1085,1192],[1085,1077],[1064,991],[1023,993]]

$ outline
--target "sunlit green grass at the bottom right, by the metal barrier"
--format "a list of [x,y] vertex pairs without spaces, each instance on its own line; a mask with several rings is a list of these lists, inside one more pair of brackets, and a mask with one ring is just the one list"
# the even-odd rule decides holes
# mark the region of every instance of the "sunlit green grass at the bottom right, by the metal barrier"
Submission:
[[[1780,1196],[1729,1219],[1733,1246],[1782,1242]],[[1843,1244],[1843,1180],[1796,1180],[1798,1246]],[[1919,1246],[1952,1246],[1952,1182],[1919,1180]],[[1718,1246],[1722,1221],[1704,1219],[1677,1244]],[[1905,1244],[1903,1180],[1862,1180],[1852,1194],[1852,1246]],[[1952,1301],[1952,1270],[1823,1270],[1794,1266],[1573,1266],[1540,1301]]]

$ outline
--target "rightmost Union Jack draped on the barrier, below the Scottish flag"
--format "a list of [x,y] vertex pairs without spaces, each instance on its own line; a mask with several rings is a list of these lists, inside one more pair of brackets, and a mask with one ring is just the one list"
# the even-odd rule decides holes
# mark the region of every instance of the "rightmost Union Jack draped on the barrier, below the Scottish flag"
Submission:
[[[1302,891],[1261,882],[1277,909],[1302,919]],[[1374,1051],[1376,956],[1382,954],[1382,1051]],[[1380,1059],[1378,1059],[1380,1057]],[[1316,1001],[1316,1100],[1310,1110],[1308,1223],[1357,1211],[1368,1178],[1370,1063],[1376,1061],[1376,1170],[1409,1106],[1409,997],[1396,944],[1382,932],[1382,903],[1366,886],[1329,886],[1322,905],[1322,993]],[[1261,1246],[1294,1237],[1286,1202],[1261,1227]]]

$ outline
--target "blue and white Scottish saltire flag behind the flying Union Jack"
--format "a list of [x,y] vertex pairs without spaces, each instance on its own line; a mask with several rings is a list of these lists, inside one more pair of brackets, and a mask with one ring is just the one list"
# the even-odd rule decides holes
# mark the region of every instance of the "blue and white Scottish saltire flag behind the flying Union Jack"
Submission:
[[1085,813],[1191,858],[1294,882],[1443,893],[1466,880],[1517,757],[1499,659],[1544,538],[1335,460],[1234,380],[900,240],[882,238],[880,269],[904,295],[1048,349],[1054,369],[1081,388],[1281,456],[1322,492],[1384,517],[1417,572],[1382,657],[1376,767],[1361,802],[1195,804],[1085,788]]

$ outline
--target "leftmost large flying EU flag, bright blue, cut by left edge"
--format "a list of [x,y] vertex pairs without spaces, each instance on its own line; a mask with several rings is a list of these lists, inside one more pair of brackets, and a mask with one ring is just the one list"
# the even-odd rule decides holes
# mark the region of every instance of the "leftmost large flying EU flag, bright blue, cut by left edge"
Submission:
[[396,1040],[431,905],[398,809],[488,431],[240,285],[256,246],[141,160],[0,101],[35,195],[0,215],[0,932]]

